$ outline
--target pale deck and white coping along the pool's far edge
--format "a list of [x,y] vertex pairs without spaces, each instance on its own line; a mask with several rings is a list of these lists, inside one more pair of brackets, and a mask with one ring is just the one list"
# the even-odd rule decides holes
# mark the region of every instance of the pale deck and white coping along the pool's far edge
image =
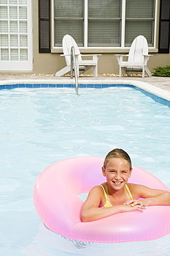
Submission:
[[[27,82],[25,82],[27,81]],[[3,89],[9,89],[13,84],[59,84],[65,86],[65,84],[75,84],[74,79],[70,79],[70,76],[56,77],[52,75],[0,75],[0,86],[5,85]],[[123,76],[117,75],[98,75],[93,77],[91,75],[84,75],[78,77],[78,84],[85,84],[88,88],[103,88],[105,84],[131,84],[148,93],[158,96],[164,100],[170,102],[170,77],[140,77],[140,76]],[[67,86],[66,86],[67,87]],[[81,86],[80,86],[81,87]],[[15,88],[15,87],[14,87]],[[12,89],[10,87],[10,89]]]

